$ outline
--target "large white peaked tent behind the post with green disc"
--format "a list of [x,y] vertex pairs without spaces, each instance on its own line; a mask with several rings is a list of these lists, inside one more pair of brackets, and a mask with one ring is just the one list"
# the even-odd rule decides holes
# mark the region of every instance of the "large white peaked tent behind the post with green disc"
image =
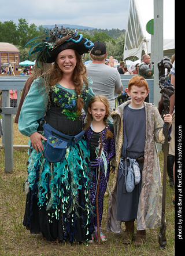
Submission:
[[[164,55],[175,52],[175,0],[164,1],[163,49]],[[124,60],[141,59],[151,52],[151,35],[146,24],[154,18],[154,0],[129,0],[129,15],[125,34]]]

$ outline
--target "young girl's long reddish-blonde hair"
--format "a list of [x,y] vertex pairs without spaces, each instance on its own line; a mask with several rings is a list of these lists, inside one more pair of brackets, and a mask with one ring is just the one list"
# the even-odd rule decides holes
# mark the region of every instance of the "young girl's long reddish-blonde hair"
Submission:
[[[110,110],[109,110],[109,100],[108,98],[106,98],[106,96],[104,95],[97,95],[97,96],[94,96],[90,99],[90,102],[88,103],[88,107],[90,107],[91,109],[91,106],[92,106],[92,103],[94,102],[102,102],[104,105],[105,105],[105,109],[106,109],[106,115],[105,117],[103,118],[103,122],[105,124],[105,127],[106,127],[106,139],[112,139],[113,138],[113,134],[111,131],[109,131],[108,129],[108,117],[110,115]],[[88,112],[87,113],[87,117],[86,117],[86,123],[84,124],[84,131],[87,131],[87,129],[90,127],[91,125],[91,121],[92,121],[92,116],[91,114]]]

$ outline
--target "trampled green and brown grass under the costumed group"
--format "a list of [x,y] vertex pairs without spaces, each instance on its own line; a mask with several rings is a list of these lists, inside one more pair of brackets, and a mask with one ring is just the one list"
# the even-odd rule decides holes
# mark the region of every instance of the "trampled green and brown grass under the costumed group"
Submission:
[[[17,127],[14,128],[14,144],[27,144],[27,138],[22,143],[17,133]],[[0,150],[0,256],[173,256],[175,255],[175,209],[172,204],[174,188],[170,188],[166,182],[166,240],[165,250],[161,250],[158,244],[157,229],[146,230],[146,244],[136,248],[134,244],[123,245],[121,237],[124,232],[114,234],[106,232],[106,215],[108,209],[108,197],[104,198],[104,210],[102,218],[102,230],[108,241],[98,246],[94,244],[52,244],[42,235],[30,234],[22,225],[25,210],[25,192],[23,184],[27,177],[27,152],[13,152],[13,172],[5,173],[4,151]],[[163,154],[160,153],[160,166],[162,170]],[[112,183],[112,174],[110,174],[109,186]]]

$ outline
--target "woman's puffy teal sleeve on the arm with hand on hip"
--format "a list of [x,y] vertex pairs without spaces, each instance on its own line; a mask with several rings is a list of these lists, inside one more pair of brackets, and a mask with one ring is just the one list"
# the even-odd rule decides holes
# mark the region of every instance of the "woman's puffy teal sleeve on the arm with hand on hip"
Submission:
[[38,120],[45,114],[48,101],[45,87],[40,84],[39,78],[34,80],[25,97],[18,119],[18,130],[25,136],[30,136],[39,127]]

